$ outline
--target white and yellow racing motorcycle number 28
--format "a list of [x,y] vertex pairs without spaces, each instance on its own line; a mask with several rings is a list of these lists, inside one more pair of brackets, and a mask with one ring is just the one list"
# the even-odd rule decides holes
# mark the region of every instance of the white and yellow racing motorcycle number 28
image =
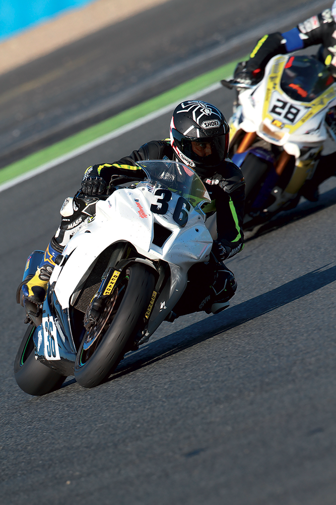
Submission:
[[336,83],[316,57],[291,54],[272,58],[256,85],[221,82],[236,90],[229,156],[244,174],[244,228],[253,229],[296,207],[324,141],[336,139]]

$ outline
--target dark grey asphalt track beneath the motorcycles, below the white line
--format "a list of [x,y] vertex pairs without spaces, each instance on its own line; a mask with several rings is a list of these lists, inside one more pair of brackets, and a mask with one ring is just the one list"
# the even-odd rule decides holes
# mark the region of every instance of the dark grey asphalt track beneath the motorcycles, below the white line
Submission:
[[[229,115],[232,95],[205,99]],[[228,262],[232,306],[164,323],[104,384],[22,392],[16,286],[83,170],[167,135],[169,114],[2,193],[4,505],[334,505],[336,180]]]

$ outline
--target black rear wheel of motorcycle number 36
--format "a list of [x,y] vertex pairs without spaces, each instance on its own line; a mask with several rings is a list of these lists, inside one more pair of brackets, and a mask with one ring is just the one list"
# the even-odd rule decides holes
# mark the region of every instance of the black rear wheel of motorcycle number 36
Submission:
[[36,327],[29,325],[14,362],[14,376],[25,393],[39,396],[58,389],[66,377],[35,360],[33,335]]

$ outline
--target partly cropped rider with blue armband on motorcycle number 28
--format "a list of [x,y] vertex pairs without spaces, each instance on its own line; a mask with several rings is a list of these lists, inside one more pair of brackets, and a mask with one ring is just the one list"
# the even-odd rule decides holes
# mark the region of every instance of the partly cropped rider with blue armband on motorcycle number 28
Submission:
[[[317,54],[318,59],[329,68],[333,77],[336,77],[336,0],[331,9],[325,9],[287,32],[264,35],[254,47],[250,59],[238,64],[234,80],[242,84],[257,84],[262,79],[265,66],[271,58],[315,44],[321,44]],[[334,108],[328,112],[327,120],[335,123],[336,110]],[[332,142],[329,150],[332,152],[321,156],[313,177],[307,180],[301,189],[301,194],[310,201],[318,200],[319,184],[332,175],[336,175],[335,142]]]

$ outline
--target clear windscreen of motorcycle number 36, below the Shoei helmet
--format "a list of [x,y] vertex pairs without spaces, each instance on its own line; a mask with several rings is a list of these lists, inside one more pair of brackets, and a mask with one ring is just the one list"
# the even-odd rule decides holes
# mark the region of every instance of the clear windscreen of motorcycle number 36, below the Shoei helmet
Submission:
[[166,188],[183,196],[192,207],[203,202],[211,202],[209,193],[198,175],[182,163],[170,160],[149,160],[138,162],[147,175],[147,183],[158,188]]

